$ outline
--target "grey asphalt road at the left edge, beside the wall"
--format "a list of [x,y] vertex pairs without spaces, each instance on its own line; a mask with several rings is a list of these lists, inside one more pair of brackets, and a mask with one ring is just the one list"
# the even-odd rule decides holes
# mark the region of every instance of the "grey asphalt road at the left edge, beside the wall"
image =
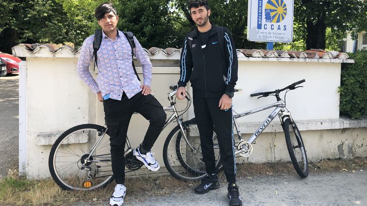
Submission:
[[19,76],[0,77],[0,178],[18,167]]

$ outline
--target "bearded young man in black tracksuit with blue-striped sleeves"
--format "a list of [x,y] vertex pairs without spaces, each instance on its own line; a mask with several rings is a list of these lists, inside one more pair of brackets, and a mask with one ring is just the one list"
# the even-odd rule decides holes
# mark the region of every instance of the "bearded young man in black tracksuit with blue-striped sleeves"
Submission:
[[231,106],[238,69],[235,45],[228,29],[223,28],[220,32],[222,28],[210,23],[207,0],[189,0],[188,9],[198,27],[184,41],[177,95],[179,99],[184,98],[185,86],[190,80],[203,160],[208,173],[195,192],[204,194],[219,188],[212,140],[215,131],[228,182],[229,204],[242,205],[236,185],[232,132]]

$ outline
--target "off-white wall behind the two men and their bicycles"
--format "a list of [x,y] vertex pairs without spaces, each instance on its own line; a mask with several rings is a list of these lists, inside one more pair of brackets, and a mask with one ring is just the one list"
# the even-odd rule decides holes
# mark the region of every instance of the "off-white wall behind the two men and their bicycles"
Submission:
[[[16,46],[17,56],[27,57],[26,69],[20,70],[20,94],[25,94],[26,100],[20,104],[22,108],[20,119],[26,121],[20,128],[19,141],[26,143],[22,151],[22,174],[28,178],[44,178],[50,176],[48,171],[48,155],[51,145],[61,132],[68,128],[83,124],[104,124],[103,104],[96,100],[95,94],[79,79],[76,72],[78,54],[70,54],[61,50],[50,53],[45,49],[34,52],[26,51],[23,46]],[[150,56],[153,68],[152,93],[168,106],[168,87],[176,85],[179,79],[180,54],[172,56],[158,54]],[[281,89],[293,82],[305,79],[304,88],[290,91],[287,95],[287,108],[292,112],[298,123],[307,149],[309,160],[323,158],[338,158],[342,144],[347,150],[344,158],[351,156],[348,148],[357,148],[356,142],[367,144],[367,123],[365,121],[352,122],[339,119],[340,64],[345,60],[314,60],[290,58],[246,58],[239,55],[239,72],[233,104],[236,112],[265,106],[276,101],[274,97],[250,97],[251,93]],[[349,61],[351,62],[351,61]],[[138,73],[141,68],[137,64]],[[93,69],[91,68],[93,72]],[[23,72],[26,72],[24,74]],[[96,72],[93,75],[97,75]],[[190,88],[188,88],[190,90]],[[183,102],[179,107],[184,107]],[[272,111],[266,110],[248,117],[238,119],[245,139],[253,133]],[[167,115],[170,115],[168,113]],[[192,106],[183,116],[185,120],[193,117]],[[253,155],[239,162],[268,162],[289,161],[284,134],[279,122],[275,119],[260,135],[254,145]],[[143,139],[149,122],[142,116],[134,114],[128,137],[133,146],[137,146]],[[168,133],[176,123],[171,123],[158,138],[153,151],[155,157],[163,166],[162,147]],[[350,128],[357,127],[353,133]],[[332,130],[328,130],[332,128]],[[356,138],[357,137],[357,138]],[[357,139],[357,140],[355,140]],[[274,144],[276,145],[274,147]],[[273,145],[273,148],[272,148]],[[357,156],[367,156],[363,147]],[[349,150],[351,151],[351,150]],[[275,153],[274,153],[275,152]],[[21,166],[20,166],[21,167]]]

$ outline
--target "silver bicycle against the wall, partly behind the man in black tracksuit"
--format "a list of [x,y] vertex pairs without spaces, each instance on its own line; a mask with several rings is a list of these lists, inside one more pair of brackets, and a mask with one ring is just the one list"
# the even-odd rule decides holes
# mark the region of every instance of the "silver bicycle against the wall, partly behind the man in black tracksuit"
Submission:
[[[297,173],[301,177],[306,177],[308,175],[308,162],[305,145],[303,144],[302,137],[298,127],[293,120],[289,110],[286,108],[285,96],[289,90],[294,90],[302,86],[297,86],[305,80],[293,83],[283,89],[277,89],[275,91],[269,92],[259,92],[251,94],[251,96],[267,97],[275,96],[277,102],[271,105],[266,105],[257,109],[253,109],[243,113],[236,113],[233,109],[233,124],[235,132],[238,135],[238,142],[235,144],[235,155],[241,157],[249,157],[253,151],[253,143],[259,137],[259,135],[264,131],[267,125],[273,121],[276,116],[279,116],[281,125],[283,127],[285,141],[287,144],[287,149],[293,166],[295,167]],[[284,100],[280,98],[279,94],[285,91]],[[243,116],[251,115],[256,112],[263,110],[275,108],[273,112],[262,122],[254,134],[246,141],[241,136],[241,131],[237,123],[237,119]],[[181,126],[181,125],[180,125]],[[169,171],[177,179],[182,180],[198,180],[206,176],[205,165],[201,156],[200,147],[192,147],[192,145],[200,145],[200,137],[197,133],[198,129],[196,122],[184,122],[183,128],[174,129],[167,137],[164,147],[163,147],[163,159],[164,164]],[[183,130],[182,130],[183,129]],[[184,133],[182,132],[184,131]],[[213,140],[216,140],[216,134],[213,133]],[[215,161],[216,169],[220,171],[222,165],[219,161],[220,157],[218,155],[219,146],[217,141],[214,142],[215,151]],[[200,155],[198,156],[198,153]]]

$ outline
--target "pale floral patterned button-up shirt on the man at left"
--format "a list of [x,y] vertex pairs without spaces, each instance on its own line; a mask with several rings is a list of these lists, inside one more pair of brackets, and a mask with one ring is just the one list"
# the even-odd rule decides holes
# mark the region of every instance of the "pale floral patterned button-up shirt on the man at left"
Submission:
[[[140,82],[132,66],[131,46],[123,32],[118,31],[113,41],[102,32],[101,47],[97,51],[97,81],[89,72],[89,65],[93,60],[94,35],[84,40],[77,70],[80,78],[94,93],[102,92],[102,96],[110,94],[110,98],[120,100],[125,92],[128,98],[141,91]],[[134,55],[140,61],[143,70],[143,84],[151,86],[152,63],[134,36]]]

